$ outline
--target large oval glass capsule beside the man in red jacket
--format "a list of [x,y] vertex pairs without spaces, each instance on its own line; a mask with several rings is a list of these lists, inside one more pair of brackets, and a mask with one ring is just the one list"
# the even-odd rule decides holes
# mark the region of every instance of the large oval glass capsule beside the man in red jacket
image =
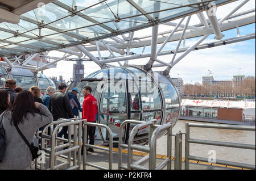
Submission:
[[[122,66],[98,70],[77,85],[80,104],[84,101],[82,89],[92,87],[92,95],[98,102],[97,123],[106,124],[112,130],[113,142],[118,142],[119,127],[125,120],[157,120],[157,124],[171,122],[173,127],[179,117],[180,99],[168,78],[156,72],[147,73],[135,66]],[[127,142],[134,124],[123,131]],[[109,141],[105,128],[96,129],[96,139]],[[138,131],[134,142],[146,144],[148,128]]]

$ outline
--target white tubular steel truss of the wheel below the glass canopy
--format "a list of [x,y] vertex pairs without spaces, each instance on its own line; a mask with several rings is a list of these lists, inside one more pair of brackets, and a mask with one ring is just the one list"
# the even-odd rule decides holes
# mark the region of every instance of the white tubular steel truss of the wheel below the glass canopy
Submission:
[[[195,24],[193,26],[189,25],[191,15],[188,15],[181,18],[179,23],[162,23],[167,26],[174,27],[170,31],[159,32],[159,27],[161,26],[161,24],[156,24],[152,27],[151,36],[135,37],[134,32],[130,32],[128,37],[126,37],[125,35],[118,35],[110,37],[109,39],[93,41],[90,43],[76,45],[70,48],[61,48],[58,51],[65,53],[63,57],[59,57],[57,59],[55,58],[54,61],[40,67],[28,65],[30,60],[32,60],[32,58],[36,56],[36,53],[32,54],[30,57],[23,61],[20,61],[20,56],[3,57],[4,61],[0,61],[0,64],[9,66],[10,69],[13,66],[18,66],[33,69],[37,72],[47,69],[48,65],[55,64],[60,60],[93,61],[98,66],[100,66],[100,68],[108,68],[114,66],[110,64],[113,62],[118,62],[119,66],[123,66],[124,64],[129,64],[129,61],[131,60],[148,57],[149,60],[147,64],[141,65],[141,68],[148,71],[151,68],[166,67],[166,69],[162,71],[162,74],[168,75],[170,73],[171,68],[174,67],[174,65],[176,65],[180,60],[182,60],[185,56],[187,56],[188,53],[190,53],[193,50],[212,48],[221,45],[237,43],[240,41],[255,39],[255,32],[252,32],[247,35],[241,35],[239,31],[240,27],[255,23],[255,9],[234,14],[248,1],[249,0],[241,1],[240,5],[234,7],[233,10],[228,12],[221,19],[217,19],[216,14],[214,13],[210,14],[210,11],[214,11],[214,9],[212,9],[212,7],[208,7],[208,10],[206,11],[207,17],[205,17],[203,12],[198,12],[196,15],[201,23]],[[133,1],[128,2],[132,3]],[[58,5],[64,7],[64,5],[60,3]],[[136,8],[140,12],[143,12],[143,10],[139,7]],[[83,18],[86,18],[86,16],[82,16]],[[148,14],[145,14],[144,16],[148,19],[152,19],[152,17]],[[103,24],[101,24],[101,26],[106,28]],[[236,37],[232,37],[230,39],[223,39],[224,35],[221,32],[235,28],[237,30]],[[216,41],[213,41],[212,43],[203,43],[204,40],[207,39],[207,37],[213,33],[215,34]],[[190,47],[185,47],[185,40],[191,39],[193,37],[200,37],[200,39],[197,40],[196,43],[191,45]],[[175,49],[163,50],[167,43],[173,41],[178,41]],[[181,48],[180,45],[182,41],[183,47]],[[162,44],[159,49],[157,49],[158,44]],[[144,53],[144,50],[147,46],[151,46],[151,52]],[[131,50],[135,48],[143,48],[142,53],[135,54],[134,52],[131,52]],[[101,56],[102,51],[108,51],[110,55],[106,57]],[[93,52],[97,52],[97,56],[95,56]],[[170,62],[159,60],[159,56],[163,56],[166,54],[173,54],[172,57],[170,58]],[[77,58],[68,58],[74,55],[77,56]],[[121,64],[121,61],[125,62]]]

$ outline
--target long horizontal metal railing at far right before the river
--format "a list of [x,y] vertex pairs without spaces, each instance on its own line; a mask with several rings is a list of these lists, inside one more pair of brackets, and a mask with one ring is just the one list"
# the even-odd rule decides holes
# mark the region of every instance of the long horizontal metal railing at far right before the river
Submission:
[[[185,129],[186,129],[186,133],[187,133],[186,136],[185,136],[185,170],[189,169],[189,160],[190,159],[195,160],[195,161],[209,162],[208,158],[196,157],[196,156],[189,155],[189,144],[190,143],[255,150],[255,145],[250,145],[250,144],[238,144],[238,143],[234,143],[234,142],[221,142],[221,141],[191,139],[190,138],[190,127],[255,131],[255,127],[253,127],[253,126],[185,123]],[[255,165],[250,165],[250,164],[246,164],[246,163],[224,161],[224,160],[220,160],[220,159],[215,159],[214,163],[221,164],[221,165],[234,166],[234,167],[242,167],[242,168],[245,168],[245,169],[255,169]]]

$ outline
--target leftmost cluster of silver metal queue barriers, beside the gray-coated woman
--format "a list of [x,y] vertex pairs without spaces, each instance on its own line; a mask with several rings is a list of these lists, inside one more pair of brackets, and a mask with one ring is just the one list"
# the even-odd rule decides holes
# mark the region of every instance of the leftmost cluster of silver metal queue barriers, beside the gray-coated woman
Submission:
[[[53,121],[50,124],[44,126],[43,131],[37,131],[36,137],[41,140],[41,150],[44,151],[44,157],[49,157],[49,168],[48,169],[59,169],[63,166],[68,166],[68,169],[81,169],[81,137],[82,137],[82,121],[78,118],[72,119],[59,119],[57,121]],[[57,137],[57,132],[60,128],[68,126],[68,139]],[[55,128],[55,129],[54,129]],[[72,129],[73,128],[73,129]],[[49,129],[49,132],[48,132]],[[71,137],[71,129],[73,131],[73,138]],[[39,136],[41,134],[41,136]],[[78,137],[78,142],[77,142]],[[66,142],[66,144],[58,145],[60,142]],[[47,142],[50,143],[50,147],[48,148]],[[65,150],[57,151],[62,148],[68,148]],[[78,159],[76,159],[76,152],[78,150]],[[73,157],[71,157],[71,153],[73,152]],[[67,155],[64,155],[68,153]],[[63,158],[67,160],[67,162],[62,163],[61,165],[57,165],[57,157]],[[77,161],[76,161],[77,160]],[[71,167],[71,161],[73,161]],[[77,162],[77,164],[76,164]],[[35,160],[35,169],[44,170],[45,162],[38,163],[38,159]]]

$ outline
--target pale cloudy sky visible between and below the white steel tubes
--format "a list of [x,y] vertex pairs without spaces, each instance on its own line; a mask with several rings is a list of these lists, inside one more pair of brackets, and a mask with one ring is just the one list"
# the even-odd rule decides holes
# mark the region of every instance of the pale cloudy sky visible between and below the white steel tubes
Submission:
[[[217,18],[222,18],[230,10],[234,9],[242,1],[236,1],[225,6],[217,7]],[[255,8],[255,1],[249,1],[237,12],[249,10]],[[235,14],[237,13],[235,12]],[[205,13],[205,12],[204,12]],[[185,19],[186,20],[186,19]],[[174,22],[179,22],[175,20]],[[185,21],[183,22],[183,24]],[[192,15],[189,25],[200,23],[196,15]],[[172,27],[173,28],[173,27]],[[169,26],[159,26],[158,32],[163,32],[170,30]],[[145,33],[151,32],[151,28],[140,30],[135,32],[134,37],[143,36]],[[236,37],[237,31],[229,30],[222,32],[227,39],[229,37]],[[255,33],[255,23],[248,26],[240,27],[240,35],[246,35],[248,33]],[[126,35],[127,36],[127,35]],[[203,43],[210,43],[214,40],[214,34],[210,35]],[[200,37],[187,39],[185,41],[185,47],[189,47],[195,43]],[[165,49],[175,49],[177,41],[168,43]],[[183,46],[181,42],[180,47]],[[160,45],[158,45],[158,48]],[[144,53],[151,51],[150,46],[147,47]],[[131,49],[131,52],[142,53],[142,48]],[[94,56],[98,56],[97,52],[91,52]],[[61,57],[64,53],[52,51],[49,52],[48,56]],[[109,56],[109,52],[101,52],[101,55]],[[118,54],[117,54],[118,56]],[[180,53],[176,57],[179,57]],[[164,62],[170,62],[172,55],[158,56],[158,59]],[[141,58],[138,60],[130,60],[129,64],[131,65],[143,65],[148,62],[149,58]],[[124,61],[123,61],[124,62]],[[121,62],[123,64],[123,62]],[[50,76],[59,77],[63,75],[65,81],[68,81],[72,78],[72,65],[75,61],[59,61],[57,62],[57,68],[44,70],[43,73]],[[85,67],[85,77],[94,71],[100,70],[100,67],[94,62],[83,62]],[[113,63],[112,65],[118,65]],[[164,70],[165,68],[154,68],[153,70]],[[211,74],[209,74],[211,72]],[[223,45],[220,47],[195,50],[185,56],[181,61],[179,61],[170,71],[171,77],[181,77],[186,83],[201,83],[202,76],[212,75],[216,81],[226,81],[232,80],[233,75],[242,74],[245,76],[254,76],[255,77],[255,39],[241,41],[239,43]]]

